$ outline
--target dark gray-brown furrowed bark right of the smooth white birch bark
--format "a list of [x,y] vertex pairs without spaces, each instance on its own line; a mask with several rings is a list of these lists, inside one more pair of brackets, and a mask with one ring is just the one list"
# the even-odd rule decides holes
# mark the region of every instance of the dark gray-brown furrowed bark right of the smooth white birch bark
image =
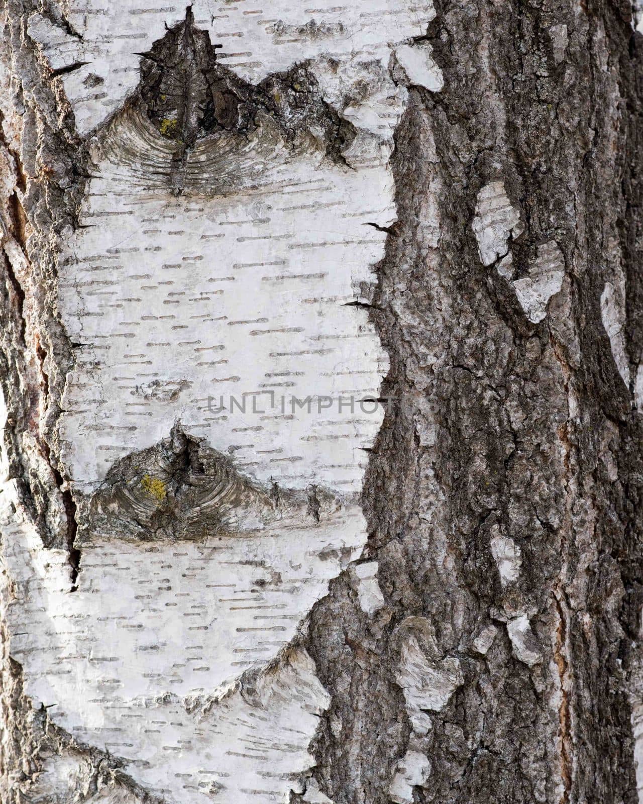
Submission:
[[[641,415],[600,295],[620,261],[636,371],[641,37],[629,10],[606,3],[436,10],[428,41],[444,90],[415,92],[399,129],[399,224],[374,313],[387,394],[407,403],[385,420],[365,492],[392,616],[369,626],[342,580],[313,613],[309,650],[333,694],[317,773],[335,802],[385,802],[412,744],[432,763],[418,801],[635,802]],[[544,240],[564,255],[568,279],[535,325],[477,253],[477,194],[498,180],[526,224],[514,276]],[[504,590],[489,549],[498,529],[522,552]],[[512,654],[518,612],[538,644],[533,667]],[[395,679],[408,617],[428,621],[465,675],[421,738],[400,718]],[[489,622],[482,656],[472,642]]]

